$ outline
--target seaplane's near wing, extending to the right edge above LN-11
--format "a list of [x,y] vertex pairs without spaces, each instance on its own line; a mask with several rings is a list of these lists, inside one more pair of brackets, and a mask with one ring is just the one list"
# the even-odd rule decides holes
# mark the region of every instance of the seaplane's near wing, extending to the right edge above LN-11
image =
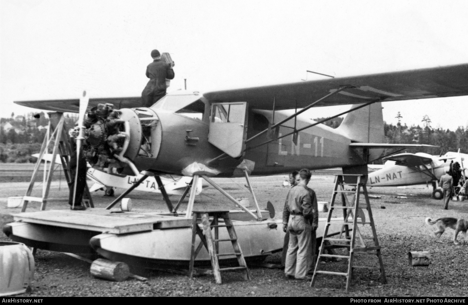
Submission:
[[262,87],[212,91],[212,102],[249,102],[256,109],[303,108],[344,85],[352,85],[316,106],[362,104],[366,101],[398,101],[468,95],[468,64],[399,72],[369,74]]

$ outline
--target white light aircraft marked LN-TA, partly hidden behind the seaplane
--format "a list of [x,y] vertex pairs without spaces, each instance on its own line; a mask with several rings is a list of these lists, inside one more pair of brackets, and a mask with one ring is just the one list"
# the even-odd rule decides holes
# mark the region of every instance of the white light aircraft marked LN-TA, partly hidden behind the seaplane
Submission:
[[[33,157],[38,158],[39,154],[33,154]],[[52,161],[52,154],[44,154],[42,159],[47,162]],[[62,164],[60,160],[60,156],[56,156],[55,159],[56,164]],[[100,189],[103,189],[107,195],[113,194],[109,193],[106,189],[111,187],[118,187],[123,189],[129,189],[132,187],[141,177],[143,174],[138,174],[137,176],[127,176],[121,175],[117,173],[108,173],[106,171],[101,171],[99,169],[92,168],[89,164],[88,170],[86,172],[86,177],[93,182],[93,185],[89,187],[89,192],[94,192]],[[161,176],[162,184],[166,189],[168,195],[179,195],[182,196],[184,190],[186,189],[187,185],[190,184],[191,178],[190,177],[183,177],[183,176],[174,176],[174,175],[163,175]],[[161,193],[160,188],[158,187],[156,179],[154,177],[146,178],[141,184],[139,184],[136,188],[138,191],[150,192],[150,193]],[[202,180],[198,181],[197,185],[197,192],[198,195],[203,190]]]

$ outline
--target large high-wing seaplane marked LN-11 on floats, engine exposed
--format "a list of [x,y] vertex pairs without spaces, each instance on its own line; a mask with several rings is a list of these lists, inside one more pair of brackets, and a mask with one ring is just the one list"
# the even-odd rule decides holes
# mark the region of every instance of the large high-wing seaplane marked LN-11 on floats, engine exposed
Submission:
[[[367,174],[367,164],[378,159],[384,148],[424,147],[383,143],[381,102],[464,95],[468,95],[468,64],[206,93],[173,91],[149,108],[140,107],[140,97],[88,99],[83,95],[80,100],[15,103],[80,112],[82,140],[77,146],[93,167],[115,168],[122,175],[142,173],[143,177],[183,175],[192,179],[192,185],[203,178],[236,204],[212,178],[245,177],[256,210],[239,207],[256,221],[238,221],[234,227],[245,258],[260,260],[281,250],[284,232],[281,220],[262,214],[250,176],[304,167],[342,167],[344,174]],[[320,124],[323,121],[311,122],[303,114],[312,107],[340,104],[350,104],[351,109],[332,117],[347,113],[336,129]],[[282,111],[286,109],[296,111],[288,114]],[[117,121],[107,126],[107,119]],[[108,209],[15,214],[14,219],[21,222],[7,224],[4,232],[39,248],[83,253],[91,245],[110,260],[146,267],[187,266],[194,195],[195,188],[191,188],[182,215],[169,204],[165,214],[111,215],[109,208],[117,198]],[[320,223],[317,236],[322,234],[325,218]],[[204,251],[196,263],[210,260]],[[232,248],[220,246],[219,253],[226,251]]]

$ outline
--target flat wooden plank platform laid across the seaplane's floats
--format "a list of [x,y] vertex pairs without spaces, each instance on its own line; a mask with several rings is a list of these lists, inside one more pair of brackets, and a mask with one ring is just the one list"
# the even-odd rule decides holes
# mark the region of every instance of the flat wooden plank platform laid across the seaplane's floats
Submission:
[[39,223],[57,227],[87,231],[125,234],[151,231],[154,229],[191,227],[191,219],[156,213],[111,213],[102,208],[88,208],[84,211],[70,209],[23,212],[12,215],[15,221]]

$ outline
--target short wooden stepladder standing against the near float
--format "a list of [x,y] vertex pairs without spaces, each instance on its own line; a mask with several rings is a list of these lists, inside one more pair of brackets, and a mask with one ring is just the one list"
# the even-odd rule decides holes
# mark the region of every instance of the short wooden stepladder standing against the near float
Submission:
[[[210,223],[209,217],[213,217],[213,220]],[[219,223],[219,219],[223,219],[224,223]],[[201,220],[200,228],[198,220]],[[225,227],[229,238],[219,238],[219,227]],[[212,236],[212,229],[214,228],[214,238]],[[197,247],[195,247],[195,237],[199,236],[201,241]],[[234,252],[231,253],[219,253],[219,243],[220,242],[231,242]],[[195,258],[198,253],[205,246],[211,258],[212,270],[206,270],[203,268],[195,268]],[[229,267],[229,268],[219,268],[219,257],[220,256],[233,256],[237,258],[239,267]],[[212,274],[217,284],[221,284],[221,274],[223,271],[242,271],[244,273],[244,280],[249,281],[250,271],[247,267],[247,264],[242,254],[241,246],[237,241],[237,235],[234,230],[233,223],[229,217],[228,211],[194,211],[193,212],[193,221],[192,221],[192,248],[190,253],[190,268],[189,273],[190,277],[193,276],[193,273],[196,271],[200,274]]]

